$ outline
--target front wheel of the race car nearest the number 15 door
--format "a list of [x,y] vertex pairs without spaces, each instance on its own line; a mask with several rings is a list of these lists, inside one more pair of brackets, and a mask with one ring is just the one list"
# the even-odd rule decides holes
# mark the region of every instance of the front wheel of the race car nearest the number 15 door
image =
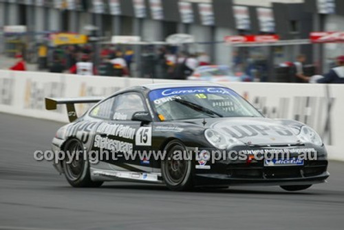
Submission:
[[164,148],[166,157],[161,163],[162,178],[167,187],[173,191],[186,191],[193,188],[193,161],[173,159],[173,155],[185,150],[184,144],[177,140],[170,141]]

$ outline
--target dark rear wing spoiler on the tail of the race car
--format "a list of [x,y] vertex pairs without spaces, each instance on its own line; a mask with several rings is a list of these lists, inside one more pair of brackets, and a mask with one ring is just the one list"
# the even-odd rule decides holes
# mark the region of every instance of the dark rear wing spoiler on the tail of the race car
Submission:
[[74,122],[78,119],[76,115],[74,104],[91,104],[100,102],[103,100],[103,97],[76,97],[76,98],[51,98],[45,97],[45,108],[48,111],[56,109],[58,104],[65,104],[67,106],[67,115],[69,122]]

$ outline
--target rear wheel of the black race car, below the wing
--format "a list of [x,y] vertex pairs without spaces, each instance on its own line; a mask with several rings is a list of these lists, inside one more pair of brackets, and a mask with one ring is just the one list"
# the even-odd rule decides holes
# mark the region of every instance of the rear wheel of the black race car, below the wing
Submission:
[[83,143],[77,139],[69,140],[66,143],[65,151],[79,151],[78,157],[74,155],[72,162],[67,163],[68,159],[63,160],[63,169],[65,170],[65,178],[73,187],[100,187],[103,181],[92,181],[89,174],[89,161],[83,159]]

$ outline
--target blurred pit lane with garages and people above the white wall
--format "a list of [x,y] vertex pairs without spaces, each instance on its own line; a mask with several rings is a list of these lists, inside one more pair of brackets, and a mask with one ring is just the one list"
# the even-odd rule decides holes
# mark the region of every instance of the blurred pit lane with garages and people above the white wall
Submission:
[[308,82],[300,68],[344,55],[342,0],[1,0],[0,16],[1,69]]

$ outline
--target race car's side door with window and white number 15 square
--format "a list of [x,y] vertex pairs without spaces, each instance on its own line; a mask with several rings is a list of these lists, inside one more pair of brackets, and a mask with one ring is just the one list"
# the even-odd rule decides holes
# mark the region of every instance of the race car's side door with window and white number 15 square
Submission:
[[110,122],[115,127],[118,126],[113,137],[119,146],[116,164],[133,172],[151,172],[150,160],[144,159],[142,154],[151,150],[152,124],[131,119],[136,112],[148,113],[143,96],[137,92],[129,92],[116,97]]

